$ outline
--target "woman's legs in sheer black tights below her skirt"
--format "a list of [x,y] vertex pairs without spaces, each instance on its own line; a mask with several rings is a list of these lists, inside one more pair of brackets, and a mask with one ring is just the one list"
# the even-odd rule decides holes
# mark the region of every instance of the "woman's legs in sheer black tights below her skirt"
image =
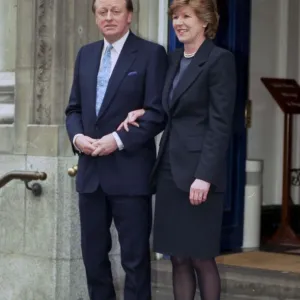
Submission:
[[174,300],[194,300],[196,279],[201,300],[220,300],[221,282],[215,259],[171,257]]

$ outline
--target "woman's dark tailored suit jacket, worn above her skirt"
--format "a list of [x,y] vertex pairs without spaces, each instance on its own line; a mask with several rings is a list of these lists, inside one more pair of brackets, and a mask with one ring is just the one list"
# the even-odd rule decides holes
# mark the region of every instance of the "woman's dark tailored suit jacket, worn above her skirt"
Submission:
[[159,165],[169,138],[169,155],[176,185],[189,191],[198,178],[212,184],[212,190],[226,187],[226,158],[236,98],[233,55],[205,40],[169,99],[182,50],[170,57],[163,91],[168,115],[160,143]]

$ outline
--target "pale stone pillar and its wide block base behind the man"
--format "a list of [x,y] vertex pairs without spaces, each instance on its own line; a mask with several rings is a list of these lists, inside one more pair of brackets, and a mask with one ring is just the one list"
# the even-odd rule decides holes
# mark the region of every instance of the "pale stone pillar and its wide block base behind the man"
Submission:
[[[64,109],[77,51],[99,38],[91,2],[17,0],[15,122],[0,128],[5,138],[4,145],[0,143],[0,176],[11,170],[37,170],[48,178],[41,183],[40,197],[20,181],[0,189],[1,299],[88,299],[78,196],[74,178],[67,175],[77,157],[65,131]],[[148,2],[135,1],[132,25],[145,37],[150,37],[149,29],[142,29],[151,23],[146,18]],[[140,16],[146,18],[146,27]],[[111,260],[119,288],[124,273],[114,228],[112,235]]]

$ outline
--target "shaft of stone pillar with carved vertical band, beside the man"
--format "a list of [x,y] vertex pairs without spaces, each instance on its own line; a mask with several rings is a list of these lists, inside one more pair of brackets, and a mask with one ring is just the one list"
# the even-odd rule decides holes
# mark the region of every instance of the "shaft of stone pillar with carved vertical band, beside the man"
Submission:
[[75,55],[99,36],[90,0],[36,0],[34,124],[63,124]]

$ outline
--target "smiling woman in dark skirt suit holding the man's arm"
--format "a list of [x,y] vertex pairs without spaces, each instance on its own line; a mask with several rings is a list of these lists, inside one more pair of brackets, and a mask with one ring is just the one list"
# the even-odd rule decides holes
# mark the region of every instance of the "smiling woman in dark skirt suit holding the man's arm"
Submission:
[[[236,75],[233,55],[216,47],[214,0],[174,0],[169,14],[184,49],[170,54],[163,92],[166,124],[154,168],[154,250],[171,256],[176,300],[219,300],[219,254]],[[138,125],[147,110],[122,124]],[[142,126],[142,123],[141,123]]]

